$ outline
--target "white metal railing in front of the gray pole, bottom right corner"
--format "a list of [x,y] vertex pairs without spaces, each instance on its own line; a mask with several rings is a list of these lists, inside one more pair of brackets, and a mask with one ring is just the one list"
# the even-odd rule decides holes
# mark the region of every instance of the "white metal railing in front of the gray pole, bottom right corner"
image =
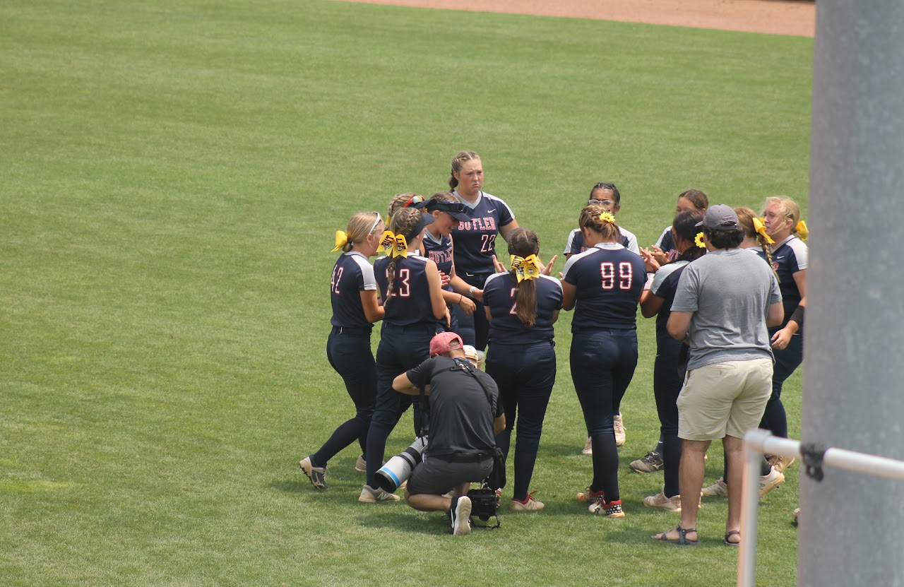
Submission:
[[[757,523],[759,518],[759,466],[762,455],[781,455],[802,459],[808,470],[822,475],[822,467],[844,469],[904,481],[904,461],[886,459],[862,452],[843,449],[814,450],[802,446],[799,440],[773,436],[771,432],[754,429],[744,435],[744,482],[741,493],[741,542],[738,558],[738,587],[754,587],[757,573]],[[815,455],[815,457],[814,457]],[[816,461],[816,462],[814,462]],[[805,506],[805,504],[804,504]]]

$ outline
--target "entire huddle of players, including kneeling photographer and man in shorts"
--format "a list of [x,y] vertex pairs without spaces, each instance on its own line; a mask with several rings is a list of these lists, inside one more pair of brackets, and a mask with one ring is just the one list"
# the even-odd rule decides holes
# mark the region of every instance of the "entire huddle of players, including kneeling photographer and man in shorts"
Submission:
[[[619,405],[637,365],[639,307],[656,320],[661,433],[631,469],[662,470],[662,490],[644,504],[682,516],[654,539],[700,544],[701,497],[729,497],[723,542],[739,544],[741,438],[756,427],[787,436],[782,384],[803,360],[807,248],[797,205],[769,197],[758,217],[749,208],[710,206],[706,194],[689,190],[678,196],[672,226],[646,249],[617,223],[616,185],[600,183],[568,235],[556,278],[558,256],[542,262],[536,233],[520,227],[503,200],[481,191],[483,178],[480,157],[463,151],[452,160],[451,191],[399,194],[388,224],[379,212],[356,213],[336,232],[334,251],[342,254],[330,282],[326,354],[356,412],[301,460],[301,469],[325,490],[329,459],[357,441],[356,469],[366,473],[359,501],[398,501],[381,486],[378,469],[391,431],[413,407],[413,431],[428,431],[429,441],[404,487],[411,507],[446,511],[453,534],[467,534],[468,486],[493,468],[498,447],[512,463],[509,510],[542,510],[530,483],[556,379],[553,325],[561,310],[574,311],[570,375],[593,470],[578,499],[597,516],[624,517]],[[508,266],[495,258],[497,235]],[[485,373],[474,367],[484,352]],[[703,488],[703,459],[717,439],[724,475]],[[790,464],[763,459],[761,495],[784,482]]]

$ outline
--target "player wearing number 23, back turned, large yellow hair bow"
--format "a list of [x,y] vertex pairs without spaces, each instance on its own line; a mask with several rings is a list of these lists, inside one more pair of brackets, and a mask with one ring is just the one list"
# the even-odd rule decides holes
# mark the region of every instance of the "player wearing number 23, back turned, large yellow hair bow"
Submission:
[[[383,235],[383,242],[391,245],[390,254],[373,266],[385,315],[377,347],[377,400],[365,452],[367,483],[358,497],[363,503],[399,500],[375,482],[386,439],[411,405],[411,396],[393,390],[392,380],[428,358],[437,320],[446,315],[437,264],[419,254],[423,232],[431,222],[433,216],[414,208],[393,214],[390,232]],[[416,431],[418,421],[416,410]]]

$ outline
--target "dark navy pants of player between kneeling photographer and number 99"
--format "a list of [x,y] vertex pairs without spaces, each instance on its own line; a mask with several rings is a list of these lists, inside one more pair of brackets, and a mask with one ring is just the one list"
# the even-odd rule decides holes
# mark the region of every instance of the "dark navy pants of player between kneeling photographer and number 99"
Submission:
[[524,500],[531,485],[533,466],[540,448],[543,418],[556,383],[556,353],[551,341],[530,346],[498,345],[490,342],[486,373],[499,387],[505,411],[505,430],[496,436],[496,446],[508,459],[512,431],[514,444],[514,497]]

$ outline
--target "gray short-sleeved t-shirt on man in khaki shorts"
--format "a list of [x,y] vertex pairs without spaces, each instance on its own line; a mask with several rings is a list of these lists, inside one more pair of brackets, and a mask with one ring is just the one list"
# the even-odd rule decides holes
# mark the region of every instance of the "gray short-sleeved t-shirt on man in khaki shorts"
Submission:
[[685,268],[673,312],[694,312],[688,369],[772,358],[766,316],[782,300],[767,263],[741,249],[710,251]]

